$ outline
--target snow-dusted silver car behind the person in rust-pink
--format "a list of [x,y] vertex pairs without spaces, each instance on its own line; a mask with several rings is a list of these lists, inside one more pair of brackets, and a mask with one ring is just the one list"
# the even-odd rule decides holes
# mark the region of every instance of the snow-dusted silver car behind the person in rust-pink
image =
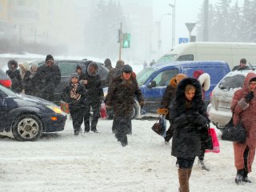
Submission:
[[232,116],[230,106],[234,91],[242,88],[246,74],[253,72],[256,74],[256,67],[251,70],[235,70],[226,74],[224,78],[215,86],[210,104],[207,106],[210,121],[218,128],[222,128]]

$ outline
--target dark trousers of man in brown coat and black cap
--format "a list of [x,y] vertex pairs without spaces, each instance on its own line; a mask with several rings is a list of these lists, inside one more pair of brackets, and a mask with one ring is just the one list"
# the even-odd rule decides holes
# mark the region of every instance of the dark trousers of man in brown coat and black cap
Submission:
[[115,137],[118,139],[118,142],[127,144],[127,134],[130,134],[130,125],[131,118],[130,117],[116,117],[115,120]]

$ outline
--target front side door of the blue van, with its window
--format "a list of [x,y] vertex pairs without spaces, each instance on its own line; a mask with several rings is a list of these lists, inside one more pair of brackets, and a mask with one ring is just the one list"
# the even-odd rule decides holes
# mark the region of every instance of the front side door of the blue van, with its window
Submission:
[[145,108],[147,112],[156,113],[160,107],[162,96],[169,85],[170,79],[179,73],[178,68],[166,69],[159,71],[152,81],[143,87],[143,96],[146,102]]

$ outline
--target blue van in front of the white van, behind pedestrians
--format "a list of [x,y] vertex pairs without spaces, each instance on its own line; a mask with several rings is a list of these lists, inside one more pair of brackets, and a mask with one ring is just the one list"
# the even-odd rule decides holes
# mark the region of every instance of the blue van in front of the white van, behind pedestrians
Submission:
[[143,114],[156,113],[170,79],[176,74],[186,74],[188,77],[193,77],[194,70],[203,70],[210,74],[210,90],[206,91],[205,95],[207,104],[210,102],[210,93],[214,86],[230,72],[230,66],[222,61],[183,61],[154,64],[140,71],[137,74],[137,81],[140,90],[142,90],[145,106],[140,110],[138,102],[135,103],[135,118],[141,117],[141,111]]

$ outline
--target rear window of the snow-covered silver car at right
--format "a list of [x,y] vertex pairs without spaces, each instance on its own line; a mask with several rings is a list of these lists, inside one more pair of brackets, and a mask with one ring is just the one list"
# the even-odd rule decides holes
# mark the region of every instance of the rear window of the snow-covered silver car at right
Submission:
[[218,88],[221,90],[230,90],[242,88],[245,76],[243,74],[236,74],[234,76],[227,76],[222,79],[218,84]]

